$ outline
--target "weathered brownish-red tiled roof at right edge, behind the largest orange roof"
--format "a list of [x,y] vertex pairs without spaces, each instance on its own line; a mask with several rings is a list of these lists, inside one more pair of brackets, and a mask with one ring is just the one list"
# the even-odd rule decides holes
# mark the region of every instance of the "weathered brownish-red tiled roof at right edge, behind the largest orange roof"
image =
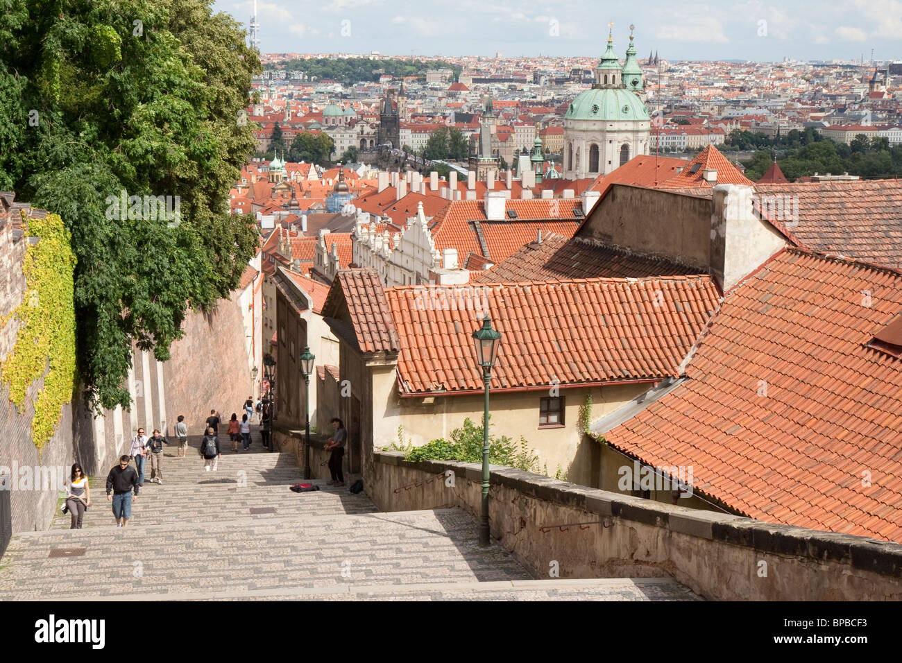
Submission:
[[782,223],[807,248],[902,267],[902,180],[756,184],[755,190],[759,197],[782,197]]

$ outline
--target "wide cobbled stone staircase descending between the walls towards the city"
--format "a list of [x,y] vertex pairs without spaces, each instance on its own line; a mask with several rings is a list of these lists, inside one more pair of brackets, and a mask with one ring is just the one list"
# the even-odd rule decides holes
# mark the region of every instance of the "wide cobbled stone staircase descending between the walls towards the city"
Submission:
[[[0,599],[99,600],[695,600],[669,578],[536,580],[498,546],[479,548],[465,511],[380,512],[364,493],[314,480],[292,493],[294,456],[226,439],[205,472],[200,437],[163,453],[163,483],[144,487],[116,528],[92,486],[84,529],[60,513],[17,534],[0,560]],[[239,446],[240,448],[240,446]]]

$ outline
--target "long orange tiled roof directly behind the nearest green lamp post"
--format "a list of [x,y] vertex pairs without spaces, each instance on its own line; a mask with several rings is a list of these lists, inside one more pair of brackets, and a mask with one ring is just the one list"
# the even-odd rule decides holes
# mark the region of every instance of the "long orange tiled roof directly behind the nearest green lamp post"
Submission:
[[472,334],[486,311],[502,333],[495,388],[657,381],[676,375],[718,302],[706,276],[457,288],[385,291],[400,393],[482,390]]

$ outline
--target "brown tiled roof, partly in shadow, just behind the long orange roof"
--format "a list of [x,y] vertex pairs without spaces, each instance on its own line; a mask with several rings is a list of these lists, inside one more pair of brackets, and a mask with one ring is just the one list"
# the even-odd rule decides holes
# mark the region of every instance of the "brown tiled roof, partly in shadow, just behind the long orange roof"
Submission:
[[571,279],[644,278],[695,274],[697,269],[657,256],[632,253],[584,237],[544,235],[541,244],[531,242],[475,281],[569,281]]

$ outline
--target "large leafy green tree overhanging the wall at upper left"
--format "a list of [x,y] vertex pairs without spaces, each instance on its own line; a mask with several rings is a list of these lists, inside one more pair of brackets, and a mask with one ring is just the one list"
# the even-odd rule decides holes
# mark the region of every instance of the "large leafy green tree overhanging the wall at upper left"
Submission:
[[[167,359],[256,249],[227,199],[253,154],[236,118],[260,60],[212,0],[0,2],[0,185],[62,217],[88,401],[128,407],[133,342]],[[178,197],[179,225],[111,216],[121,191]]]

